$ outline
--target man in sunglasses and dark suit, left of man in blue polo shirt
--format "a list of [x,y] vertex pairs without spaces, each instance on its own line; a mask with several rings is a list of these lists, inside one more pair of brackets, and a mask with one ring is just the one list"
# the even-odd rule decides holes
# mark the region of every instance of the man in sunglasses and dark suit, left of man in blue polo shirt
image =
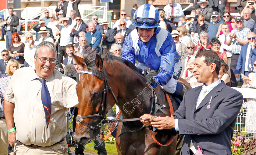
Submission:
[[83,22],[80,15],[76,16],[76,25],[72,28],[72,32],[70,33],[70,36],[72,37],[72,44],[75,44],[78,41],[78,33],[81,31],[86,32],[88,29],[88,26]]

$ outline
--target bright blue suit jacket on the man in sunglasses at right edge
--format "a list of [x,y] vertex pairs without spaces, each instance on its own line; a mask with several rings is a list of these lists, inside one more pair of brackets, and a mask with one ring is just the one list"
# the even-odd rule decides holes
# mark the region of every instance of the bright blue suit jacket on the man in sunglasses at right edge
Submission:
[[[244,69],[245,69],[245,59],[246,59],[248,45],[249,45],[249,43],[243,45],[241,48],[241,52],[240,52],[240,55],[239,55],[239,58],[238,58],[238,61],[236,64],[236,74],[237,73],[239,74],[240,70],[242,68],[241,73],[245,75]],[[252,69],[253,69],[253,64],[254,64],[255,60],[256,60],[256,48],[252,49],[250,52],[250,55],[249,55],[249,61],[251,62]]]

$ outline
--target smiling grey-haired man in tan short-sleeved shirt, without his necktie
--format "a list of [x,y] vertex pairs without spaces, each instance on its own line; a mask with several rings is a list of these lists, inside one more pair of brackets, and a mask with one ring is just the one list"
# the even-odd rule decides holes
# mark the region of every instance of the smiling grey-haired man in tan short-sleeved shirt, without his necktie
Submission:
[[[66,154],[68,145],[65,111],[78,104],[76,81],[54,69],[55,45],[41,42],[36,47],[34,67],[15,71],[6,91],[4,110],[8,140],[16,154]],[[49,122],[45,119],[39,79],[45,80],[50,94],[51,112]],[[44,86],[45,86],[44,84]],[[45,88],[45,87],[44,87]],[[44,91],[43,91],[44,92]],[[47,126],[48,122],[48,126]],[[16,131],[14,129],[14,123]]]

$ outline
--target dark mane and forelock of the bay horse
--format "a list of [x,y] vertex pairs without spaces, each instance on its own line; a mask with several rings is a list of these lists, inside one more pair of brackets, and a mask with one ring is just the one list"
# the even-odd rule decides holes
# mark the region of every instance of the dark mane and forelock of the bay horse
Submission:
[[[94,49],[94,50],[84,50],[83,51],[83,58],[84,58],[84,63],[87,66],[87,69],[91,70],[93,72],[93,74],[98,77],[99,79],[105,79],[106,77],[104,76],[103,72],[99,71],[96,66],[95,66],[95,58],[96,58],[96,54],[98,52],[98,49]],[[141,75],[142,74],[142,70],[138,69],[132,62],[119,58],[117,56],[114,56],[112,54],[107,54],[104,58],[103,61],[106,60],[108,61],[108,64],[113,65],[113,61],[118,61],[121,62],[123,64],[125,64],[126,66],[128,66],[130,69],[132,69],[135,73]]]

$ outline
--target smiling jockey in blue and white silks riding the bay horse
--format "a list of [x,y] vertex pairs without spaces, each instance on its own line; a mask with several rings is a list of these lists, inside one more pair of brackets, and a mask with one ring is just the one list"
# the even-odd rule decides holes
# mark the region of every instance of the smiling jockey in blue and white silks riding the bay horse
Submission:
[[185,88],[178,81],[181,73],[180,55],[176,51],[172,35],[159,28],[160,15],[150,4],[141,5],[134,13],[133,26],[136,27],[125,39],[122,58],[144,70],[150,67],[159,70],[156,76],[145,76],[152,88],[159,85],[169,93],[183,95]]

